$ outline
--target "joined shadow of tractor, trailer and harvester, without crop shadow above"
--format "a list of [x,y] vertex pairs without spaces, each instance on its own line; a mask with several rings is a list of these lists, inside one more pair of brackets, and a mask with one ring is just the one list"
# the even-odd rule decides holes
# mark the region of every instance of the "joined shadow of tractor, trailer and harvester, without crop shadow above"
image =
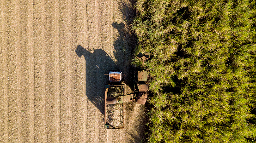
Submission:
[[[107,83],[107,76],[110,70],[120,70],[125,74],[123,82],[133,89],[133,67],[129,64],[131,60],[131,46],[125,46],[126,38],[124,31],[124,23],[112,23],[114,29],[118,30],[118,38],[115,39],[114,57],[112,57],[102,49],[87,50],[83,46],[76,47],[76,54],[79,57],[84,56],[86,61],[85,68],[85,94],[99,111],[104,114],[104,85]],[[128,49],[130,48],[130,49]]]

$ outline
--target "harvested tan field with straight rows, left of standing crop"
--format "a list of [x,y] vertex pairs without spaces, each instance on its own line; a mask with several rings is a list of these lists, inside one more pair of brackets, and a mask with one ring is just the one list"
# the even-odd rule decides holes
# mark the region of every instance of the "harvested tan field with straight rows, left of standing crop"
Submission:
[[133,2],[0,1],[0,143],[140,143],[145,109],[125,104],[125,128],[104,129],[109,70],[126,75]]

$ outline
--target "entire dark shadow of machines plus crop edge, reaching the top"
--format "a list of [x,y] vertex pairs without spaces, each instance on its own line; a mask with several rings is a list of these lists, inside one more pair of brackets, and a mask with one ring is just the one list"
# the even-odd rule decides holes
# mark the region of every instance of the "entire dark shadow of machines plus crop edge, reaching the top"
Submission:
[[[132,23],[136,12],[133,8],[134,1],[123,1],[118,4],[122,13],[124,23],[112,23],[112,27],[118,31],[114,39],[114,58],[102,49],[92,51],[86,50],[83,46],[76,47],[76,54],[84,56],[86,62],[85,91],[88,99],[99,111],[104,114],[104,85],[107,83],[109,71],[122,71],[123,82],[134,90],[134,66],[131,65],[133,50],[136,46],[136,36],[130,32],[129,25]],[[115,31],[116,31],[115,30]]]

